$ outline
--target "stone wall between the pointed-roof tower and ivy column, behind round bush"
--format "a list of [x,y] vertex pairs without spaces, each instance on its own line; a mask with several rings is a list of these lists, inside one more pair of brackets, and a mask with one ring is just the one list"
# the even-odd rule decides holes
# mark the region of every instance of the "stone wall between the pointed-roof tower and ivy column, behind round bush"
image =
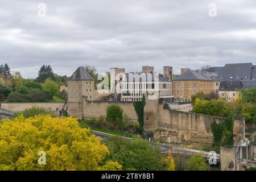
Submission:
[[82,100],[82,115],[84,118],[99,118],[101,115],[106,115],[106,107],[109,105],[118,105],[123,109],[123,113],[134,122],[138,122],[137,113],[134,110],[132,102],[121,101],[87,101]]

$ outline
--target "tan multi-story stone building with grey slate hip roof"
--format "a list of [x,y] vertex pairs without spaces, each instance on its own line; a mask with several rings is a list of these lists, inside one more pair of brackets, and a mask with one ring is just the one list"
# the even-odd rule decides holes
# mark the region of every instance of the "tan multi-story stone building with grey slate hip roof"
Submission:
[[213,81],[216,76],[216,73],[208,71],[181,68],[181,75],[176,77],[173,81],[175,100],[191,101],[191,96],[193,94],[199,92],[208,94],[210,92],[213,92]]

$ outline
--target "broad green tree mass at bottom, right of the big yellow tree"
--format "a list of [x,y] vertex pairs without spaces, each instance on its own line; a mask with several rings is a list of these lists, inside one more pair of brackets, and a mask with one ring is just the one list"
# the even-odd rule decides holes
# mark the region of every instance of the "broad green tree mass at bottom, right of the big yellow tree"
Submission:
[[141,138],[135,138],[133,142],[122,137],[110,137],[104,140],[108,146],[110,155],[106,160],[117,161],[123,166],[123,170],[164,170],[168,162],[160,153],[160,148],[151,146]]

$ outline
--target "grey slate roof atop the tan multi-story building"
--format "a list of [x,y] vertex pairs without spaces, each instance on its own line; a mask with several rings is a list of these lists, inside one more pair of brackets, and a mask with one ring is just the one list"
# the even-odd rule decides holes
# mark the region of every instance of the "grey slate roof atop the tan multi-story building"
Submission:
[[216,76],[216,73],[189,69],[187,72],[176,77],[175,80],[214,80]]

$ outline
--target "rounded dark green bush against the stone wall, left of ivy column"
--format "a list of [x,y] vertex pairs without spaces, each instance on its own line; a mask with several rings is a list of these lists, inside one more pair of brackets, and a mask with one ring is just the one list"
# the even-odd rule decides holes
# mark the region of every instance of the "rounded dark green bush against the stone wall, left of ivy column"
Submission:
[[106,107],[106,121],[113,122],[115,125],[121,123],[123,119],[123,110],[118,105],[109,105]]

